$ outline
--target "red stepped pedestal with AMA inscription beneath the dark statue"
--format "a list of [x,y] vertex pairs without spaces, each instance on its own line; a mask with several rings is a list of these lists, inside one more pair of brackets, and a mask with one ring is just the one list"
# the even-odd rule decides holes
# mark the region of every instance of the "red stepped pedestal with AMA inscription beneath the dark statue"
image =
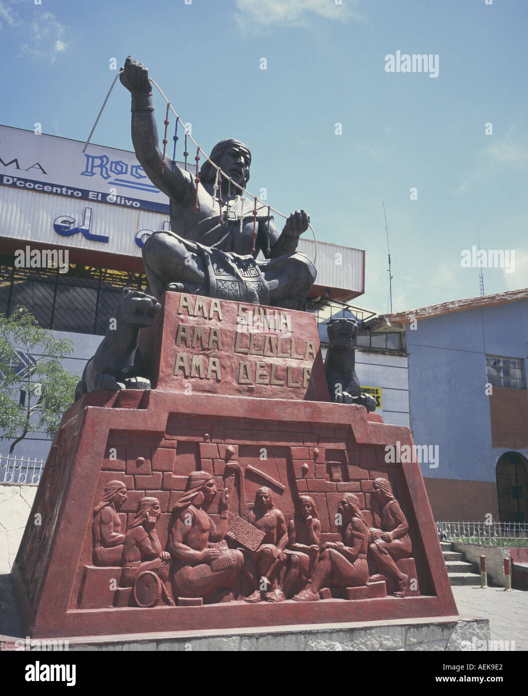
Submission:
[[[385,461],[385,445],[396,441],[401,446],[412,445],[409,429],[384,425],[379,416],[367,416],[362,406],[309,400],[313,395],[324,395],[326,388],[319,372],[322,363],[313,317],[290,313],[293,330],[297,318],[298,326],[305,322],[304,337],[298,337],[293,349],[291,345],[286,348],[287,341],[281,342],[281,352],[290,351],[290,358],[284,358],[283,364],[283,358],[276,356],[256,360],[265,365],[277,363],[274,378],[284,384],[270,384],[271,368],[261,365],[263,383],[255,384],[255,397],[242,396],[240,387],[248,385],[237,381],[240,356],[249,356],[249,352],[235,354],[229,332],[221,328],[222,351],[226,354],[218,345],[203,349],[203,354],[209,360],[217,351],[222,379],[215,381],[217,375],[212,374],[210,381],[215,381],[217,393],[205,393],[207,379],[200,377],[199,361],[194,362],[194,377],[190,374],[191,359],[189,376],[181,367],[176,383],[171,382],[176,353],[181,353],[181,347],[175,343],[178,323],[183,321],[177,308],[174,313],[179,301],[177,293],[166,298],[165,316],[160,319],[164,321],[162,337],[155,338],[153,334],[143,339],[143,346],[150,345],[152,350],[150,365],[153,372],[157,371],[157,388],[150,392],[85,395],[63,417],[12,571],[28,635],[52,638],[456,615],[419,464]],[[223,317],[230,313],[231,317],[237,316],[237,303],[222,301],[221,306]],[[208,314],[209,310],[205,312]],[[180,317],[180,322],[175,322],[174,317]],[[191,323],[188,316],[185,321]],[[208,326],[209,321],[201,317],[201,325]],[[201,345],[193,348],[192,338],[188,340],[189,347],[185,348],[189,354],[198,354]],[[316,343],[309,354],[307,340]],[[272,343],[270,340],[267,345]],[[277,342],[274,345],[277,349]],[[253,346],[260,350],[255,342]],[[249,351],[249,343],[242,347]],[[248,357],[245,362],[251,363],[252,359]],[[288,371],[283,368],[288,367],[288,361],[295,367],[290,370],[290,383],[302,385],[305,367],[317,375],[311,391],[307,384],[304,388],[286,386]],[[206,375],[205,360],[203,365]],[[186,383],[191,384],[190,390],[185,390]],[[218,393],[224,385],[226,393]],[[270,397],[274,389],[280,397]],[[215,477],[217,488],[222,489],[229,445],[233,459],[244,472],[247,500],[254,500],[259,487],[268,486],[275,504],[288,520],[294,514],[297,495],[308,492],[320,511],[322,541],[341,539],[335,513],[343,491],[355,493],[364,517],[372,524],[373,480],[388,479],[409,523],[412,539],[412,559],[401,562],[405,565],[403,572],[407,573],[414,564],[419,594],[409,592],[404,598],[385,596],[382,582],[343,589],[341,597],[332,593],[329,599],[313,603],[288,600],[249,604],[239,596],[235,601],[214,604],[190,598],[176,606],[130,606],[130,588],[120,584],[121,568],[93,566],[93,508],[101,500],[105,485],[110,480],[121,480],[126,486],[128,499],[119,510],[123,528],[130,524],[141,498],[153,496],[160,500],[162,515],[157,533],[165,548],[171,511],[183,495],[189,473],[207,471]],[[261,457],[263,449],[265,459]],[[341,462],[341,481],[335,480],[335,471],[327,462],[332,462],[334,468],[336,462]],[[230,502],[234,512],[240,505],[238,496],[240,489],[235,487]],[[207,510],[215,521],[219,519],[217,498]]]

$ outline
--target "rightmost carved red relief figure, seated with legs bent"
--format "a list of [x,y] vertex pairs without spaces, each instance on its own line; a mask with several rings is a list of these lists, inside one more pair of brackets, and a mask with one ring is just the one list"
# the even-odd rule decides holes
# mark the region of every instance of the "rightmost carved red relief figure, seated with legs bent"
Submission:
[[412,553],[409,525],[387,479],[375,479],[372,496],[380,507],[380,528],[371,528],[368,551],[373,555],[378,569],[396,580],[398,589],[394,596],[404,597],[408,578],[398,569],[396,561],[408,558]]

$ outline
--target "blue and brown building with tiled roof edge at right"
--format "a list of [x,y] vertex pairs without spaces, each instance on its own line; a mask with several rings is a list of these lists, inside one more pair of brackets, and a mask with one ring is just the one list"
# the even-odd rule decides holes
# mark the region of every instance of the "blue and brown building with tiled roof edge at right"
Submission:
[[528,523],[528,289],[386,318],[406,329],[414,441],[437,447],[435,519]]

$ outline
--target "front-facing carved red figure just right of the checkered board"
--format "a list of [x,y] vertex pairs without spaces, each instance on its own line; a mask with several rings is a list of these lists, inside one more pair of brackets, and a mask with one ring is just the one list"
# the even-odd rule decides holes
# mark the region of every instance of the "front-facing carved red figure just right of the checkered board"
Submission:
[[277,601],[277,598],[270,594],[274,579],[276,578],[281,565],[286,560],[284,548],[288,544],[288,528],[284,514],[275,507],[272,491],[266,486],[259,488],[255,494],[254,508],[249,512],[248,521],[255,525],[257,529],[265,532],[261,545],[256,551],[244,553],[249,556],[250,562],[244,567],[244,575],[255,588],[246,601],[256,603],[262,599]]

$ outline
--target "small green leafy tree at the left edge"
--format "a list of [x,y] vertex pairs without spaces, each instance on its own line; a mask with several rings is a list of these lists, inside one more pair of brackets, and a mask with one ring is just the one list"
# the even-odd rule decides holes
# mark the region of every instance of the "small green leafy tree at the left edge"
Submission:
[[0,439],[13,439],[9,454],[29,432],[53,437],[59,428],[80,379],[61,365],[72,350],[72,341],[42,329],[25,307],[0,315]]

